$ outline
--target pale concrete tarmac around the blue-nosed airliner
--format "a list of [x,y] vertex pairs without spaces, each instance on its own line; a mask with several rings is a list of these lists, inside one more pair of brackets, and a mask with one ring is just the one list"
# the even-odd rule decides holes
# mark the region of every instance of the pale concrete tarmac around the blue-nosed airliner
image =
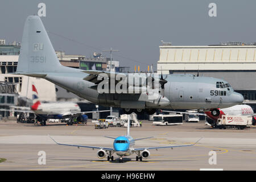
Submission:
[[[244,130],[214,129],[199,123],[176,126],[152,126],[151,121],[142,121],[142,127],[131,127],[133,138],[154,137],[138,140],[135,147],[176,146],[192,144],[191,147],[150,150],[150,158],[136,161],[136,155],[123,158],[119,163],[98,159],[97,150],[59,146],[59,143],[113,147],[113,139],[126,134],[126,127],[94,129],[94,123],[66,126],[63,123],[47,123],[35,126],[30,123],[0,121],[0,170],[81,170],[81,171],[152,171],[152,170],[255,170],[256,126]],[[42,152],[46,160],[42,160]],[[42,162],[45,161],[45,164]]]

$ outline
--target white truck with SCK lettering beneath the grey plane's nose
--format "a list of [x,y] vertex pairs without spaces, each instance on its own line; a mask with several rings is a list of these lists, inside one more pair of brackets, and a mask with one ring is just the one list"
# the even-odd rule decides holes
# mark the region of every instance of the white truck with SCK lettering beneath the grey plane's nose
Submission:
[[220,129],[233,128],[243,130],[247,126],[253,125],[253,118],[245,115],[222,115],[218,119]]

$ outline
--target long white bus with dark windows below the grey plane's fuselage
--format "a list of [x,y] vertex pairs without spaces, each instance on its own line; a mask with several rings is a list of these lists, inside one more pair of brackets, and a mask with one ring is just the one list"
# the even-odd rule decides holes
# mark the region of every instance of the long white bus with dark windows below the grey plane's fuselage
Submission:
[[153,125],[183,125],[182,114],[153,115]]

